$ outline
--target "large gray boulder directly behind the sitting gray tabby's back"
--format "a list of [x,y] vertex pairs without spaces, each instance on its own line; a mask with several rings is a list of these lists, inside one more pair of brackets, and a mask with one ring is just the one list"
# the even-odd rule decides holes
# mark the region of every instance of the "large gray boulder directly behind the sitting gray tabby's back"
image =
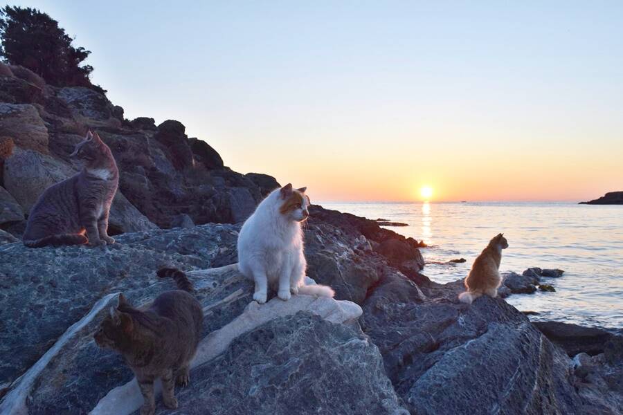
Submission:
[[24,212],[30,212],[44,190],[73,174],[73,167],[33,150],[15,149],[12,156],[4,160],[4,187]]

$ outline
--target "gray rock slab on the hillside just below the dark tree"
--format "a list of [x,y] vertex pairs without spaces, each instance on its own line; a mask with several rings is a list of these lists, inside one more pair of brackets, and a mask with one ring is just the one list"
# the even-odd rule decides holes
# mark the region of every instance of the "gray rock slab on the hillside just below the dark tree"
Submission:
[[114,115],[114,106],[106,96],[86,86],[66,86],[56,97],[67,104],[75,120],[91,128],[121,127]]

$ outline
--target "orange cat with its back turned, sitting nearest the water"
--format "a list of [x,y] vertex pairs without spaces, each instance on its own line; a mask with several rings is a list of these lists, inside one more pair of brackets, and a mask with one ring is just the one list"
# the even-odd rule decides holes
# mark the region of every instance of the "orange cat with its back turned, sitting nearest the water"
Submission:
[[471,271],[465,279],[467,291],[460,293],[459,300],[471,304],[474,299],[482,294],[490,297],[497,297],[498,287],[502,283],[500,277],[500,261],[502,261],[502,250],[508,248],[508,241],[504,234],[497,234],[494,239],[489,241],[487,248],[483,249],[473,261]]

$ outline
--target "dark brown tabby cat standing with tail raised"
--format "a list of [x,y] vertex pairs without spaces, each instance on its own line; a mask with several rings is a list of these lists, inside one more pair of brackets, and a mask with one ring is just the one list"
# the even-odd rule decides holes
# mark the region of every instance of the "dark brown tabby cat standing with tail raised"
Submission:
[[[93,335],[99,347],[121,353],[134,371],[145,403],[141,415],[156,409],[154,380],[161,378],[165,407],[177,408],[174,382],[186,386],[190,381],[190,360],[201,339],[204,312],[186,275],[174,268],[158,271],[161,278],[172,277],[179,290],[166,291],[152,304],[131,306],[123,294],[116,308],[102,321]],[[182,291],[183,290],[183,291]]]

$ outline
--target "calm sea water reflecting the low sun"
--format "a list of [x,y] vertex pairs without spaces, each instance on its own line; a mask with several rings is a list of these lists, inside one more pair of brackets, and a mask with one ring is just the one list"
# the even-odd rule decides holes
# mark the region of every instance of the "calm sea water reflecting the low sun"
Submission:
[[426,262],[464,258],[464,264],[426,264],[423,273],[445,283],[464,278],[491,237],[504,232],[500,271],[561,268],[546,284],[555,293],[512,295],[534,320],[623,328],[623,206],[575,203],[320,203],[369,219],[408,223],[389,228],[424,239]]

